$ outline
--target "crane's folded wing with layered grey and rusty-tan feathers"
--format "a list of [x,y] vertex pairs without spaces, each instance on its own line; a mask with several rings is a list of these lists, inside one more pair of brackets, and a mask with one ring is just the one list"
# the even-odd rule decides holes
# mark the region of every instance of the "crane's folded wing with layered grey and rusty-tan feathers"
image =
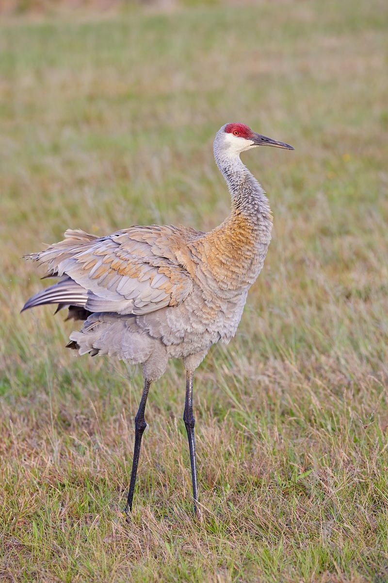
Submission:
[[[186,243],[198,234],[194,229],[157,225],[130,227],[101,238],[67,230],[65,240],[28,257],[44,265],[49,276],[63,277],[56,284],[62,305],[76,304],[65,298],[69,287],[78,305],[90,312],[147,314],[179,305],[193,290]],[[31,305],[54,303],[54,288],[41,292],[46,292],[45,301]]]

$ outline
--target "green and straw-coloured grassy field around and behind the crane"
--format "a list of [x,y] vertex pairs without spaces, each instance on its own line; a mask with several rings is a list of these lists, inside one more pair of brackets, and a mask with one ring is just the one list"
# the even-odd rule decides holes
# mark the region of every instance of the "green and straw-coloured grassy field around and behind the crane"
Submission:
[[[388,9],[262,0],[0,24],[1,581],[388,581]],[[220,125],[273,240],[236,338],[195,376],[201,517],[172,361],[65,349],[22,255],[67,227],[207,230],[229,212]]]

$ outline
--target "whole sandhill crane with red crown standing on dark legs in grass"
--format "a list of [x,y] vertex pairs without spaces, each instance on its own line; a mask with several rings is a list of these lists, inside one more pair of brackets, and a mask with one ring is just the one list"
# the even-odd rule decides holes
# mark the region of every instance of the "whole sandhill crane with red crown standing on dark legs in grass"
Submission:
[[183,359],[186,369],[183,420],[197,512],[194,370],[212,344],[228,343],[234,336],[272,229],[264,190],[240,160],[241,152],[257,146],[294,149],[243,124],[226,124],[217,132],[213,151],[232,196],[232,210],[209,233],[166,225],[132,226],[108,237],[67,230],[65,240],[27,256],[44,265],[48,277],[60,280],[31,297],[23,310],[56,303],[57,311],[69,308],[68,319],[86,322],[80,332],[70,334],[68,348],[141,364],[144,389],[135,417],[126,512],[132,509],[149,387],[170,358]]

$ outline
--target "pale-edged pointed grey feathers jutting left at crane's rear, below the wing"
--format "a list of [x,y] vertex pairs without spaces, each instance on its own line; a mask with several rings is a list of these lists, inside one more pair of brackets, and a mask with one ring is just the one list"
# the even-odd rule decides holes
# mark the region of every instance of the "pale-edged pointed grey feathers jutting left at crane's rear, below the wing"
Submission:
[[[62,282],[54,283],[53,286],[47,287],[35,294],[35,296],[30,297],[30,299],[24,304],[22,312],[29,308],[33,308],[35,305],[44,304],[58,304],[56,312],[69,306],[81,308],[81,310],[86,312],[84,307],[87,299],[87,291],[72,279],[67,278],[62,280]],[[72,317],[74,316],[69,313],[69,318]]]

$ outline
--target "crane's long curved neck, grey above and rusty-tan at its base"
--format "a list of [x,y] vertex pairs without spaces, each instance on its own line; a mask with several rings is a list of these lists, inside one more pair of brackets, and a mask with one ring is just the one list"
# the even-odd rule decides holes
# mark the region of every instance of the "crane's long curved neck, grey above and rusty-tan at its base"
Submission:
[[205,236],[207,260],[220,287],[249,287],[264,263],[270,242],[272,216],[259,182],[238,154],[215,152],[216,163],[232,195],[232,211]]

